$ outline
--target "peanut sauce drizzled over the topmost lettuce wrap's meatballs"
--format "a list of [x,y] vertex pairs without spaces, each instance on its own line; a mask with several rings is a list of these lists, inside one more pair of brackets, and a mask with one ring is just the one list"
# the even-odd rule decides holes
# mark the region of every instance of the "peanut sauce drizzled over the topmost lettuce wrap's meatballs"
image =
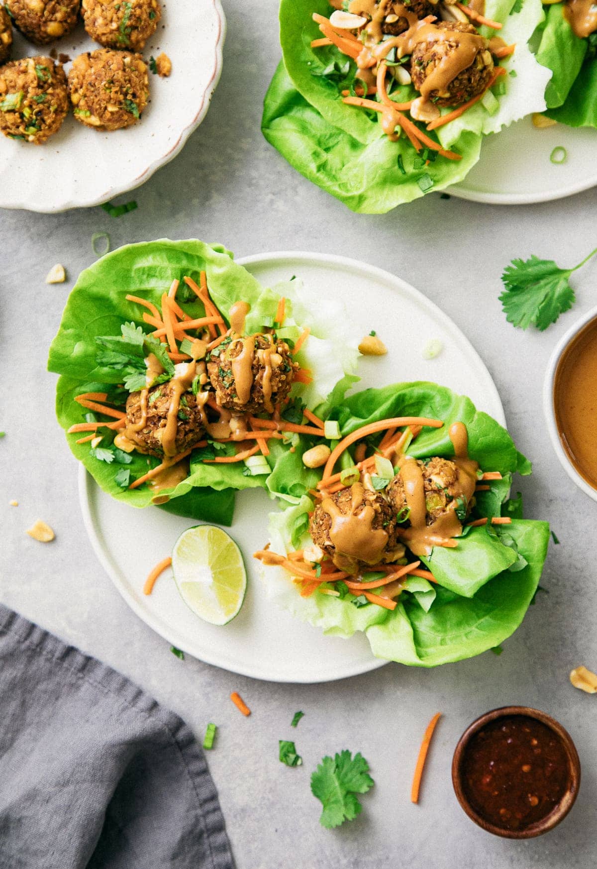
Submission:
[[[569,0],[569,2],[588,3],[589,0]],[[382,42],[381,27],[390,7],[394,9],[396,15],[406,19],[408,30],[405,30],[400,36],[392,36]],[[487,49],[490,44],[489,40],[479,33],[439,30],[434,24],[433,16],[420,20],[406,6],[394,3],[393,0],[381,0],[378,6],[375,5],[375,0],[351,0],[348,10],[357,15],[363,14],[371,17],[371,21],[364,28],[367,37],[362,52],[356,59],[359,68],[357,76],[366,83],[373,83],[371,81],[371,67],[387,57],[394,48],[396,57],[400,59],[412,54],[420,43],[454,43],[454,50],[441,57],[440,62],[421,84],[419,89],[422,97],[421,109],[424,109],[425,103],[430,103],[429,97],[434,90],[440,94],[446,93],[454,78],[467,70],[477,54],[481,50]],[[387,110],[384,110],[381,120],[382,128],[390,138],[396,138],[394,117],[393,109],[388,107]]]

